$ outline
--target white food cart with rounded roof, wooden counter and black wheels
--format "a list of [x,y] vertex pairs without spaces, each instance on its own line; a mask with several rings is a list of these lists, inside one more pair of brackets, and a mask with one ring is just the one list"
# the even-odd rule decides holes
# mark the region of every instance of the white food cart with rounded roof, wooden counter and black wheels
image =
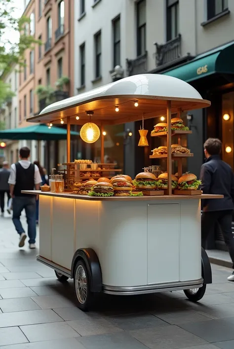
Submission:
[[[143,113],[145,119],[166,113],[170,149],[171,114],[209,105],[182,80],[141,74],[53,103],[27,121],[67,123],[70,162],[70,125],[86,123],[87,111],[101,130],[107,124],[141,120]],[[104,154],[103,138],[101,144]],[[200,199],[222,196],[172,195],[172,158],[168,151],[167,195],[99,198],[24,192],[40,195],[37,259],[53,268],[61,282],[74,279],[82,310],[98,292],[129,296],[184,290],[197,301],[212,282],[209,259],[201,249]]]

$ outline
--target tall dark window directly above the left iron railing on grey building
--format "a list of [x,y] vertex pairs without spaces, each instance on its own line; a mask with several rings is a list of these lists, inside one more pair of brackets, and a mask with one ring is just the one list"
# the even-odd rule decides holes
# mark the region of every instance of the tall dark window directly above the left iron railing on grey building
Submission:
[[137,2],[137,56],[146,52],[146,0]]

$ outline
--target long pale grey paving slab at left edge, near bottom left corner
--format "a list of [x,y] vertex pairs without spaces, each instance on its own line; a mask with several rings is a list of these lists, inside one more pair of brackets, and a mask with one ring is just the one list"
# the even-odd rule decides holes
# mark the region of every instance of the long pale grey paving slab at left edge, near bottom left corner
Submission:
[[0,314],[0,327],[63,321],[53,310],[28,310]]

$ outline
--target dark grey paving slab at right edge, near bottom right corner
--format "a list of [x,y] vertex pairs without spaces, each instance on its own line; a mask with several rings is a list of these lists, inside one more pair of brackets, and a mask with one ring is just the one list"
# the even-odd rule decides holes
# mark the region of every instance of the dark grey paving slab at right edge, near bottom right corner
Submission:
[[180,327],[210,343],[234,340],[234,317],[181,324]]

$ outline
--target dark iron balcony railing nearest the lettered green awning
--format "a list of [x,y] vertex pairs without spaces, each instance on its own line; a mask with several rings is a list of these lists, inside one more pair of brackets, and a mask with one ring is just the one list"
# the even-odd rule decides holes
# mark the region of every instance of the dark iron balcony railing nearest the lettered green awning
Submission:
[[181,34],[165,44],[156,46],[156,66],[171,63],[181,58]]

